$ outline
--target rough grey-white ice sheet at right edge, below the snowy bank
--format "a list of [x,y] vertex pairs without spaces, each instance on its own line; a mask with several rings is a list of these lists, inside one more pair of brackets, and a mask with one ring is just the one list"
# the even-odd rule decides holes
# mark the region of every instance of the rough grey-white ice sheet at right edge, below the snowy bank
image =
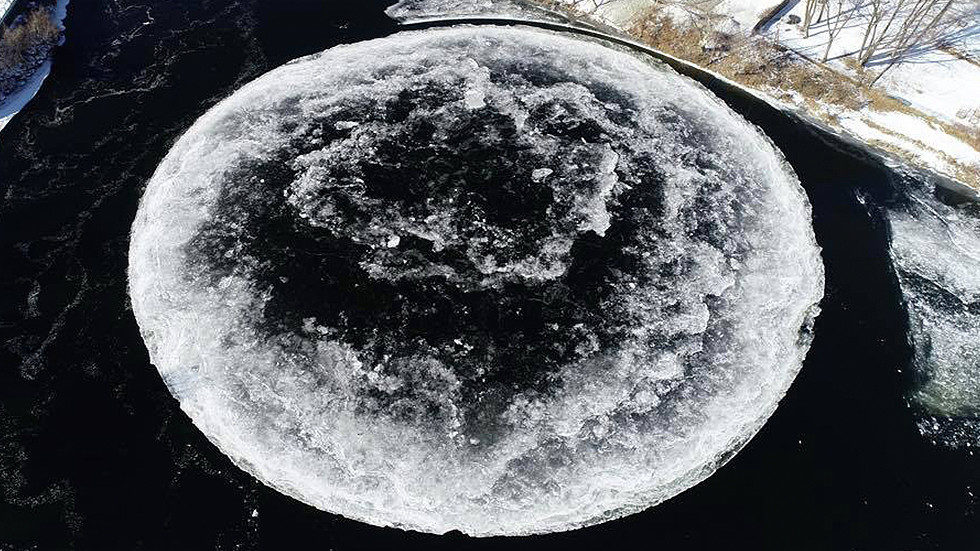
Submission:
[[919,430],[936,443],[980,446],[980,205],[912,190],[889,218]]

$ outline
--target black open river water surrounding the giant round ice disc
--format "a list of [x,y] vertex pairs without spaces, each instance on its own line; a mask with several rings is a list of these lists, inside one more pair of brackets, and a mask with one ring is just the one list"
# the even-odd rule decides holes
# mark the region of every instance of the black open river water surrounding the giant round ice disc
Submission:
[[384,4],[69,5],[53,73],[0,136],[0,550],[980,548],[980,461],[923,439],[906,400],[879,208],[919,183],[711,83],[796,169],[827,269],[802,373],[717,474],[621,520],[476,540],[349,521],[235,468],[148,362],[126,293],[130,225],[198,116],[287,60],[395,32]]

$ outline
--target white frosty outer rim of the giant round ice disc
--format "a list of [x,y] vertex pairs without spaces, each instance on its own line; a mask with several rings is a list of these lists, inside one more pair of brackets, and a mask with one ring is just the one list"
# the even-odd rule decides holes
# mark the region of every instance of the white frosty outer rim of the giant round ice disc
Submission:
[[[679,384],[695,395],[691,407],[697,410],[672,418],[687,423],[667,427],[677,434],[652,434],[645,432],[649,427],[613,419],[612,412],[621,409],[663,419],[650,413],[657,406],[649,399],[631,396],[632,377],[642,375],[644,366],[630,365],[625,375],[596,371],[611,377],[598,390],[589,388],[586,379],[578,387],[580,395],[524,406],[530,408],[525,415],[543,411],[542,424],[551,433],[534,427],[518,431],[486,456],[474,458],[390,419],[351,414],[344,410],[344,396],[312,395],[304,366],[290,363],[292,358],[250,325],[264,299],[247,279],[226,277],[206,286],[186,272],[185,246],[209,216],[226,167],[279,147],[281,137],[269,126],[275,117],[268,116],[276,109],[295,102],[306,103],[301,109],[322,108],[329,104],[329,91],[339,87],[397,93],[381,89],[387,80],[372,74],[380,64],[397,72],[399,64],[416,67],[421,59],[439,56],[445,65],[465,58],[478,67],[493,63],[498,70],[519,72],[514,67],[526,48],[549,56],[578,85],[602,79],[601,84],[623,91],[647,111],[675,109],[708,138],[742,148],[711,153],[741,177],[727,191],[767,209],[767,217],[755,213],[758,219],[739,236],[752,245],[743,265],[729,270],[733,259],[706,247],[709,256],[697,268],[703,281],[679,285],[678,292],[694,293],[693,305],[713,290],[737,295],[739,300],[721,314],[737,329],[720,348],[735,350],[739,357],[726,356],[718,361],[728,363],[705,368],[698,374],[707,377],[704,381],[681,378]],[[393,77],[386,73],[384,78]],[[492,92],[506,95],[508,90]],[[472,95],[467,98],[472,100]],[[319,107],[318,101],[323,102]],[[649,126],[643,118],[647,111],[636,113],[634,122]],[[689,149],[680,142],[667,145]],[[692,187],[703,184],[702,177],[720,181],[717,174],[677,172],[664,184],[677,212],[690,208],[685,201]],[[596,41],[527,28],[401,33],[291,62],[197,121],[160,165],[141,201],[130,249],[130,294],[151,360],[181,407],[219,449],[264,483],[320,509],[382,526],[439,533],[458,529],[479,536],[554,532],[625,516],[682,492],[710,476],[761,428],[799,371],[823,294],[823,267],[809,220],[799,182],[768,138],[669,69]],[[690,244],[681,234],[677,244]],[[692,323],[697,327],[708,321]],[[703,330],[699,335],[702,347],[712,344]],[[332,368],[358,364],[356,351],[343,343],[322,339],[314,344],[317,357],[329,358]],[[715,372],[718,376],[710,377]],[[625,400],[615,402],[617,393]],[[603,398],[615,403],[604,404]],[[684,404],[679,406],[683,410]],[[603,445],[586,442],[572,427],[566,432],[575,447],[562,456],[570,463],[528,478],[517,459],[536,450],[552,457],[546,434],[565,421],[593,418],[611,427],[605,435],[590,436]],[[675,437],[687,445],[671,440]],[[619,447],[610,448],[613,444]],[[401,453],[389,453],[395,450]],[[507,492],[497,492],[504,479],[516,482]],[[538,483],[558,491],[544,495],[535,488]]]

